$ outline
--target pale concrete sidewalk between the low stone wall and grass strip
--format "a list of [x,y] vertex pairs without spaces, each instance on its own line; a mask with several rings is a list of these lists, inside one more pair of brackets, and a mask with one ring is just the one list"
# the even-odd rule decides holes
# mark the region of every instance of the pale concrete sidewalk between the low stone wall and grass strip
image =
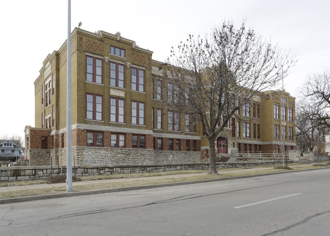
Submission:
[[[308,165],[297,165],[298,166],[308,166]],[[254,169],[254,168],[253,168]],[[235,173],[235,172],[249,172],[253,171],[250,169],[239,169],[239,170],[221,170],[221,173]],[[256,168],[256,170],[268,170],[274,169],[273,167],[260,167]],[[178,174],[178,175],[164,175],[164,176],[152,176],[152,177],[138,177],[138,178],[120,178],[118,175],[118,179],[100,179],[100,180],[83,180],[78,182],[72,182],[73,190],[75,186],[79,185],[90,185],[90,184],[100,184],[100,183],[113,183],[113,182],[129,182],[134,180],[152,180],[152,179],[170,179],[170,178],[181,178],[181,177],[190,177],[190,176],[201,176],[207,175],[207,172],[204,173],[195,173],[195,174]],[[220,177],[219,177],[220,178]],[[43,189],[43,188],[56,188],[56,187],[65,187],[66,183],[43,183],[43,184],[33,184],[33,185],[20,185],[20,186],[4,186],[0,187],[0,192],[7,191],[16,191],[16,190],[25,190],[25,189]]]

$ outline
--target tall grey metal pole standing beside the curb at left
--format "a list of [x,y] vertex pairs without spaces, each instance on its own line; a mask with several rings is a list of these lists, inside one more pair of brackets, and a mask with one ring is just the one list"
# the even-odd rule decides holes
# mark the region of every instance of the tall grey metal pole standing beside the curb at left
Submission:
[[68,0],[67,42],[67,191],[72,191],[72,141],[71,141],[71,0]]

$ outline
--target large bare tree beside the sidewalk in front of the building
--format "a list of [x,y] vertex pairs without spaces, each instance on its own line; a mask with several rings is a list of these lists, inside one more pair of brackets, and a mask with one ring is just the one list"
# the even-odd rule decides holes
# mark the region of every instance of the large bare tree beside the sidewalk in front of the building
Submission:
[[262,40],[244,21],[238,29],[224,21],[205,37],[189,35],[172,48],[163,68],[172,99],[164,102],[168,109],[193,114],[202,123],[209,143],[210,174],[217,174],[216,138],[235,111],[274,87],[294,63],[294,56]]

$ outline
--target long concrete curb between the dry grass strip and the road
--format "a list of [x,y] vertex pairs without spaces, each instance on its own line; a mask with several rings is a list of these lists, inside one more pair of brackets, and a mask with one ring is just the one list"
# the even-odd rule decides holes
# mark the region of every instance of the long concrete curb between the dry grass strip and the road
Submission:
[[79,195],[98,194],[98,193],[120,192],[120,191],[130,191],[130,190],[159,188],[159,187],[170,187],[170,186],[178,186],[178,185],[185,185],[185,184],[224,181],[224,180],[231,180],[231,179],[244,179],[244,178],[252,178],[252,177],[258,177],[258,176],[277,175],[277,174],[284,174],[284,173],[322,170],[322,169],[330,169],[330,167],[306,169],[306,170],[283,171],[283,172],[258,174],[258,175],[243,175],[243,176],[237,176],[237,177],[225,177],[225,178],[217,178],[217,179],[193,180],[193,181],[186,181],[186,182],[174,182],[174,183],[162,183],[162,184],[153,184],[153,185],[142,185],[142,186],[133,186],[133,187],[107,188],[107,189],[81,191],[81,192],[74,192],[73,191],[73,192],[63,192],[63,193],[36,195],[36,196],[22,196],[22,197],[19,197],[19,198],[0,199],[0,204],[27,202],[27,201],[35,201],[35,200],[43,200],[43,199],[65,198],[65,197],[68,197],[68,196],[79,196]]

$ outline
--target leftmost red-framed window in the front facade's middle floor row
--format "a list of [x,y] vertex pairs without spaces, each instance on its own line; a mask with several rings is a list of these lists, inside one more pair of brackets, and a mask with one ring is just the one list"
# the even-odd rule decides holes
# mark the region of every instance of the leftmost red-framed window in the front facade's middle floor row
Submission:
[[86,119],[103,121],[103,96],[86,94]]

